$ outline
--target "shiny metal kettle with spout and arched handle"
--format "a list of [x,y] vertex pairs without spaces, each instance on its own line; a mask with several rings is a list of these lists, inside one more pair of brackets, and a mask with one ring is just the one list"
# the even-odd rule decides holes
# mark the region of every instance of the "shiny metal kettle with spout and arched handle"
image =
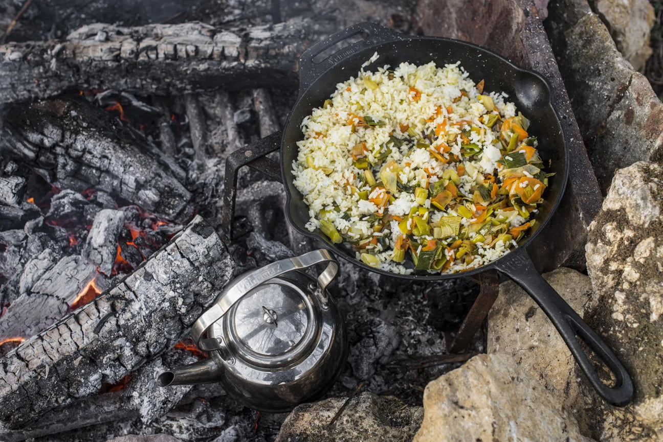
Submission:
[[[328,262],[317,280],[300,271]],[[347,358],[341,315],[326,290],[338,264],[328,250],[272,262],[228,284],[191,329],[209,359],[158,376],[161,386],[220,382],[265,412],[327,390]]]

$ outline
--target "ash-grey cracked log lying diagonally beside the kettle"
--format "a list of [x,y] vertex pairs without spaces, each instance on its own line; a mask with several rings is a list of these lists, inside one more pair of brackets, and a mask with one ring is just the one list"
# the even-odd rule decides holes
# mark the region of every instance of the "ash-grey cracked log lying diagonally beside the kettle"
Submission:
[[196,217],[117,286],[0,360],[0,428],[115,384],[172,347],[234,271],[217,233]]

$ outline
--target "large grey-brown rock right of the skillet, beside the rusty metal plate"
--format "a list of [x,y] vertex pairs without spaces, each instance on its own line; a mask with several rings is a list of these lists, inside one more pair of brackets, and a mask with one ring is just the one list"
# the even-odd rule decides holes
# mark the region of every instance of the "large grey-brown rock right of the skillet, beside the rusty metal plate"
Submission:
[[663,159],[663,103],[585,0],[548,6],[546,29],[603,192],[615,169]]

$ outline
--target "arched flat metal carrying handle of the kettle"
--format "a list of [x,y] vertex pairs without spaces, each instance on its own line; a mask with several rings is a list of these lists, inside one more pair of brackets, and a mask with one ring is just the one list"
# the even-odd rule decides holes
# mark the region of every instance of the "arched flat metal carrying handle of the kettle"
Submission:
[[304,253],[300,256],[293,258],[286,258],[280,261],[267,264],[265,267],[248,272],[240,276],[233,287],[214,305],[203,313],[198,320],[191,327],[191,337],[195,343],[200,341],[200,337],[211,327],[213,323],[221,319],[223,315],[233,306],[236,302],[241,300],[247,292],[253,290],[257,286],[271,280],[272,278],[282,275],[284,273],[292,272],[292,270],[301,270],[321,264],[322,262],[329,262],[325,270],[318,275],[318,290],[316,294],[326,302],[325,288],[330,284],[333,278],[336,277],[338,272],[338,263],[331,256],[331,253],[325,249],[313,250],[312,252]]

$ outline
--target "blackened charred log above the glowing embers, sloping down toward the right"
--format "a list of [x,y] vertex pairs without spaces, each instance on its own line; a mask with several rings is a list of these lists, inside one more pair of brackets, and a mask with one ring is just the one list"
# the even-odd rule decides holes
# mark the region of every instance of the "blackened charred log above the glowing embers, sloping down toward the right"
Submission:
[[176,178],[184,172],[142,133],[84,100],[9,106],[0,154],[32,162],[60,188],[103,190],[178,222],[193,212],[191,194]]

